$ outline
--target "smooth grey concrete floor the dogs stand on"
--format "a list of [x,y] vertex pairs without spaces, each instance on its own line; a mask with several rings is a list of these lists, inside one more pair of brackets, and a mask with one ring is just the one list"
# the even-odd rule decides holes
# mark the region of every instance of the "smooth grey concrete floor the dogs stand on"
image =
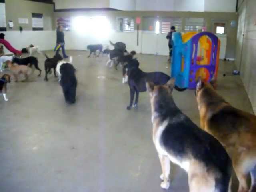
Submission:
[[[47,52],[53,56],[54,52]],[[53,75],[35,74],[30,82],[8,85],[0,97],[0,192],[162,192],[160,163],[152,142],[148,93],[138,109],[126,110],[129,88],[121,68],[106,67],[107,57],[86,58],[68,51],[77,69],[77,102],[64,102]],[[165,56],[138,55],[146,72],[169,73]],[[44,69],[43,56],[39,56]],[[233,62],[220,62],[218,92],[232,105],[252,113]],[[223,73],[226,77],[222,77]],[[105,78],[103,78],[104,76]],[[100,77],[100,78],[98,78]],[[174,91],[176,104],[199,124],[194,91]],[[186,172],[171,168],[168,191],[187,192]],[[236,191],[237,180],[233,180]]]

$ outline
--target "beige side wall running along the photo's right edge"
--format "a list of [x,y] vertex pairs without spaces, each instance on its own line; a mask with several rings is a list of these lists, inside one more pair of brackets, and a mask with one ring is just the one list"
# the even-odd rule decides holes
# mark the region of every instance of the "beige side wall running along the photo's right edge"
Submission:
[[[241,1],[240,1],[241,2]],[[240,5],[236,66],[256,114],[256,3],[244,0]],[[241,67],[240,67],[241,64]]]

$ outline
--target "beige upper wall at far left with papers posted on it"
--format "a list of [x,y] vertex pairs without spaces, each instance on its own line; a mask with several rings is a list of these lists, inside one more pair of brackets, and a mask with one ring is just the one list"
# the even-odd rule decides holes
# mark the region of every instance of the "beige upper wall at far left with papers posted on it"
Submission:
[[[52,30],[53,22],[53,4],[38,3],[25,0],[6,0],[6,24],[8,31],[19,30],[22,26],[23,30],[32,30],[32,13],[42,13],[44,17],[44,30]],[[28,18],[28,24],[19,24],[18,18]],[[14,28],[8,27],[8,21],[14,23]]]

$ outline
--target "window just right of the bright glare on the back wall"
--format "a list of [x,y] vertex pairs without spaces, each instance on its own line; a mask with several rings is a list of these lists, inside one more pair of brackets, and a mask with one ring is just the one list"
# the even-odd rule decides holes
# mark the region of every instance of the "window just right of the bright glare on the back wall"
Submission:
[[134,18],[116,18],[118,32],[134,32]]

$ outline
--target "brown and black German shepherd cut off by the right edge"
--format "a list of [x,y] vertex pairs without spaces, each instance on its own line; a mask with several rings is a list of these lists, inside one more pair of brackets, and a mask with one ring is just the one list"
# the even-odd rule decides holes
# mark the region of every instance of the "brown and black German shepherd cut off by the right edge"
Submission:
[[256,191],[256,116],[232,107],[211,84],[199,80],[196,86],[201,128],[226,148],[239,180],[238,192],[248,192],[248,173],[250,192]]

